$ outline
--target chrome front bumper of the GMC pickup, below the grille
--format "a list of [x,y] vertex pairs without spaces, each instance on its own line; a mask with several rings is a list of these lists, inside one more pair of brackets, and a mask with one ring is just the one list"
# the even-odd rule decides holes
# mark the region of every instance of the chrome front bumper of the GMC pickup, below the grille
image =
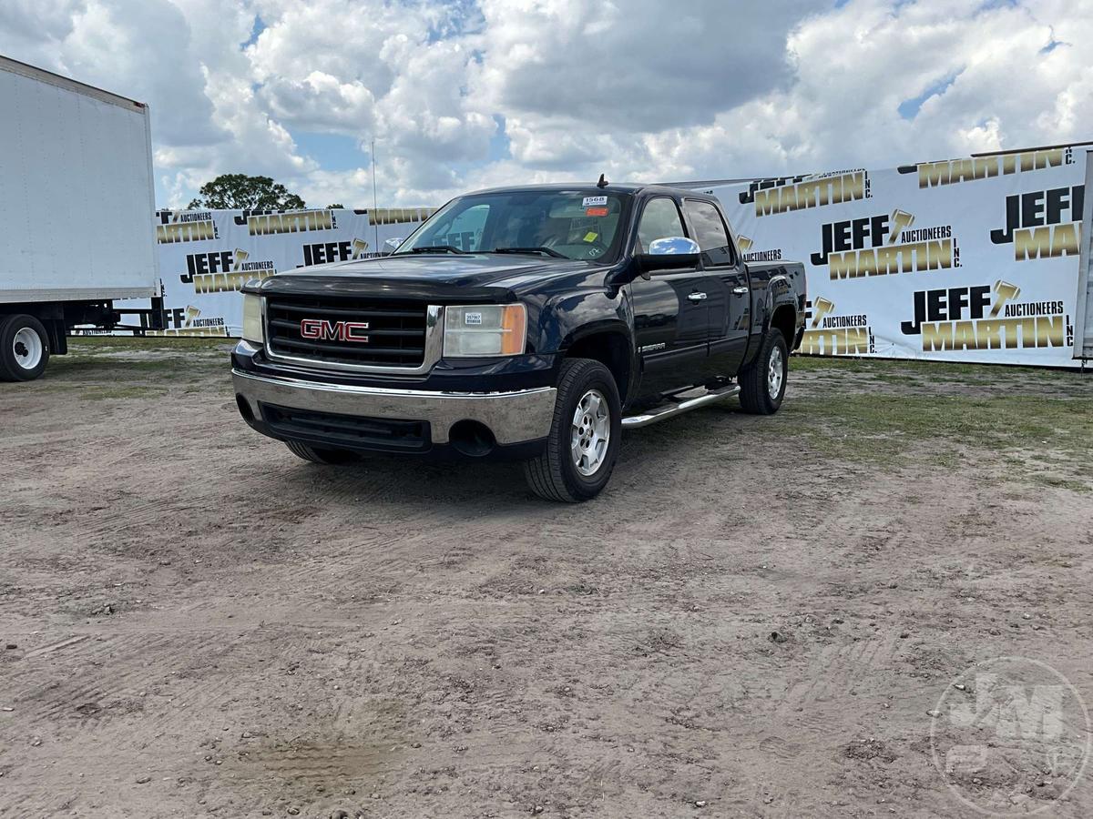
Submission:
[[518,392],[424,392],[267,378],[237,369],[232,370],[232,381],[255,418],[262,417],[258,406],[262,403],[364,418],[424,420],[433,443],[447,443],[448,431],[460,420],[484,424],[502,446],[545,438],[557,396],[553,387]]

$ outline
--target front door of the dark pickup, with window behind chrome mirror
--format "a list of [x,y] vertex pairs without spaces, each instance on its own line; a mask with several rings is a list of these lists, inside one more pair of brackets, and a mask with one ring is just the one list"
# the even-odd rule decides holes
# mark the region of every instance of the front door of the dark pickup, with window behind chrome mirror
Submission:
[[[671,236],[689,236],[679,205],[671,197],[654,197],[642,211],[633,252],[646,252],[654,240]],[[704,280],[695,266],[655,271],[630,285],[643,393],[687,387],[704,366],[710,334]]]

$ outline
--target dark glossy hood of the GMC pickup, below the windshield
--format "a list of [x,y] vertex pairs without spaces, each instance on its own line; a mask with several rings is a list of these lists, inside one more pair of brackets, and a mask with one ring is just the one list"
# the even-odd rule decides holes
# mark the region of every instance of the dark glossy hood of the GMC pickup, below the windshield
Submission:
[[286,296],[368,296],[392,299],[512,301],[517,292],[598,265],[574,259],[472,253],[388,256],[278,273],[248,293]]

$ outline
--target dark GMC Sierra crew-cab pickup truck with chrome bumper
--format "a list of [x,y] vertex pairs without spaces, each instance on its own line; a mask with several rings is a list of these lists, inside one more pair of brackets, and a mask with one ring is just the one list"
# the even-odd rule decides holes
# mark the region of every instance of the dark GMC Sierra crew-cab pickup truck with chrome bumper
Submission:
[[781,405],[801,264],[747,264],[716,199],[551,185],[448,202],[386,258],[244,288],[244,419],[295,454],[524,461],[551,500],[607,484],[623,429],[732,395]]

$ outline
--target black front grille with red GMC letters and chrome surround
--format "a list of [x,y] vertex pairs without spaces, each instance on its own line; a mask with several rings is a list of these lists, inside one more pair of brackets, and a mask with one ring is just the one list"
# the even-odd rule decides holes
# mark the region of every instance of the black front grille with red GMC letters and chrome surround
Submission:
[[267,344],[273,356],[320,365],[420,367],[426,314],[420,302],[273,296],[266,301]]

